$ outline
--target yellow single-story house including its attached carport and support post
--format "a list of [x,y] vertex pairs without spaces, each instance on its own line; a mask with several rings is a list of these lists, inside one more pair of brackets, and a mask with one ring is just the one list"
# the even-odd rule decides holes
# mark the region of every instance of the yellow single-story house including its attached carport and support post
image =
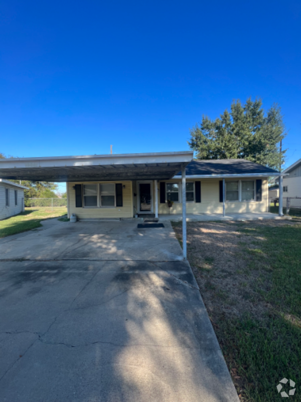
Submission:
[[80,220],[182,213],[184,257],[187,213],[267,213],[268,177],[282,179],[244,159],[193,160],[192,151],[2,159],[0,176],[67,182],[68,217]]

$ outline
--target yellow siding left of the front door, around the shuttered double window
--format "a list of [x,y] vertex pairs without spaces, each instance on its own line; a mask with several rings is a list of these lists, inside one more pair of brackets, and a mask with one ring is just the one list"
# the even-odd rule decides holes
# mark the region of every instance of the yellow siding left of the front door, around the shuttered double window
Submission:
[[122,188],[122,207],[108,208],[75,208],[75,190],[72,187],[75,184],[107,184],[108,181],[87,181],[87,182],[70,182],[68,183],[68,216],[75,214],[79,219],[85,218],[132,218],[133,217],[133,200],[132,200],[132,182],[131,181],[114,181],[125,185]]

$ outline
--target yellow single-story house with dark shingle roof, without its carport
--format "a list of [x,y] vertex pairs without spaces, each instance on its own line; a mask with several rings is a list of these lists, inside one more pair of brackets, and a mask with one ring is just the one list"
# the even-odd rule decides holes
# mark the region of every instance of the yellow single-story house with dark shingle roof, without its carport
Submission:
[[[273,169],[243,159],[192,161],[186,166],[188,214],[268,212],[268,177]],[[164,180],[70,181],[69,215],[79,219],[132,218],[156,213],[182,214],[182,175]],[[168,201],[172,207],[169,208]]]

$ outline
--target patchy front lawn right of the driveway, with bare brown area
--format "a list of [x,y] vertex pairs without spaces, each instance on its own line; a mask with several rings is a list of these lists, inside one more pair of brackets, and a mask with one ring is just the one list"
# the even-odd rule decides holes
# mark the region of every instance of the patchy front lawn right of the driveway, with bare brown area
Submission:
[[301,400],[301,223],[188,223],[188,259],[240,400]]

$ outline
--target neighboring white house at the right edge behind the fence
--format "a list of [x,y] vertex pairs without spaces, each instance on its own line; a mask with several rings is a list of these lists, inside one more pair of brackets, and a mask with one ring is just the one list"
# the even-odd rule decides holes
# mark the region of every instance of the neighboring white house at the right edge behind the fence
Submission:
[[[283,174],[283,207],[288,197],[301,197],[301,159],[285,169]],[[301,198],[290,198],[290,208],[301,208]]]

